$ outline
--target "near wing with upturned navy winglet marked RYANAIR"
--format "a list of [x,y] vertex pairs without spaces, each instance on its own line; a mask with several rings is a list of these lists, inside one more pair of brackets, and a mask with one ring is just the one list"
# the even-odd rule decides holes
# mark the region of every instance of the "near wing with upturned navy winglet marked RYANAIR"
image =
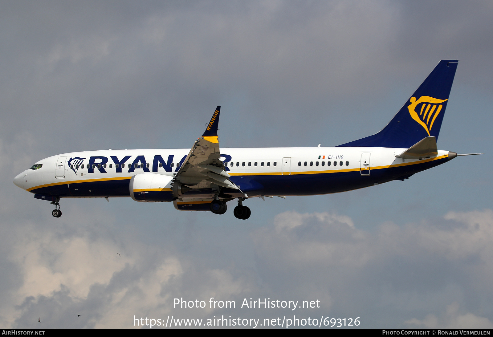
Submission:
[[216,186],[239,190],[224,169],[219,153],[217,125],[219,123],[218,106],[212,115],[206,131],[192,146],[180,169],[175,175],[175,181],[192,189],[212,188]]

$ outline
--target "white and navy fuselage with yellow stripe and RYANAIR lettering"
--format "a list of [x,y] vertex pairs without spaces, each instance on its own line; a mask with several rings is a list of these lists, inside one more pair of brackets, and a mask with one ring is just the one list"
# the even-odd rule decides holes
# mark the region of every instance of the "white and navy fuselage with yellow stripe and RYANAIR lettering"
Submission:
[[[376,185],[442,164],[449,156],[448,151],[438,151],[438,156],[423,160],[395,157],[404,150],[223,148],[221,161],[231,180],[244,192],[249,191],[248,197],[254,197],[317,195]],[[173,176],[188,152],[189,149],[147,149],[65,153],[36,162],[42,166],[25,170],[14,183],[32,193],[60,198],[130,197],[124,186],[132,176],[145,172]]]

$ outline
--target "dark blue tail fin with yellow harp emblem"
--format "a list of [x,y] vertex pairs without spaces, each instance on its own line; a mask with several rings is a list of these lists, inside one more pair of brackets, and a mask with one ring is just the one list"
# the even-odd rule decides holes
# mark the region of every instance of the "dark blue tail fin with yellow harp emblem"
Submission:
[[457,64],[440,61],[382,131],[339,146],[409,148],[424,137],[438,140]]

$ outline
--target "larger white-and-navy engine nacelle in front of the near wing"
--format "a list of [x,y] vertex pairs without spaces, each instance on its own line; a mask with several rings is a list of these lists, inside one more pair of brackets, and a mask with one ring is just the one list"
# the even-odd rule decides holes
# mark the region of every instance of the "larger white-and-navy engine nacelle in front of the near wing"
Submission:
[[172,202],[173,177],[156,173],[139,173],[130,179],[130,196],[138,202]]

